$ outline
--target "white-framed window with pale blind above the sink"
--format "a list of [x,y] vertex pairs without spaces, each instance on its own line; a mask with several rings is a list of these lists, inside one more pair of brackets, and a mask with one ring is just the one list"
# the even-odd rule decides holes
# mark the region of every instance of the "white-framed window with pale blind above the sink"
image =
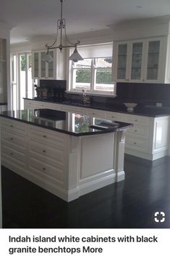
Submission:
[[85,89],[86,92],[96,94],[114,94],[112,44],[109,44],[109,47],[107,44],[82,48],[84,49],[78,49],[78,51],[82,57],[85,56],[84,60],[77,63],[71,62],[70,91],[82,92],[82,89]]

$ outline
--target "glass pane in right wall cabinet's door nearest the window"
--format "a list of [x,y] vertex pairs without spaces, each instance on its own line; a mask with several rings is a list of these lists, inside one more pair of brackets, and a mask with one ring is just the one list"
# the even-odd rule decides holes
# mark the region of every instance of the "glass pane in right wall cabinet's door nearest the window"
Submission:
[[117,60],[117,79],[125,79],[127,71],[127,44],[119,44]]

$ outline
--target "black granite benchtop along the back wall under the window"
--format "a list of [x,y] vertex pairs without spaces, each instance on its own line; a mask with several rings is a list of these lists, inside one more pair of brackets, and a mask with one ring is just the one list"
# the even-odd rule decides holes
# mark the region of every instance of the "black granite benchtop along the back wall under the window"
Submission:
[[74,102],[74,101],[55,101],[55,100],[42,100],[38,98],[29,99],[27,100],[37,100],[41,102],[47,103],[56,103],[56,104],[63,104],[63,105],[73,105],[81,108],[94,108],[102,111],[111,111],[111,112],[118,112],[118,113],[128,113],[132,115],[138,116],[149,116],[149,117],[160,117],[160,116],[170,116],[170,110],[163,109],[163,108],[156,108],[151,106],[137,106],[134,108],[133,112],[127,111],[127,108],[124,104],[110,104],[106,105],[104,103],[90,103],[90,104],[83,104],[81,102]]

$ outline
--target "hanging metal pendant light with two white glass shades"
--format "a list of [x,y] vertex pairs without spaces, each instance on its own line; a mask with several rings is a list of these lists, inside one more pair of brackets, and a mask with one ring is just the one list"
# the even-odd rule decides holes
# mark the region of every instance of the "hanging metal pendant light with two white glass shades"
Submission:
[[[80,44],[80,41],[78,40],[75,43],[72,43],[71,41],[69,41],[67,34],[66,34],[66,20],[62,17],[62,4],[63,4],[63,0],[59,0],[61,3],[61,17],[59,20],[57,20],[57,29],[56,29],[56,39],[54,41],[53,44],[48,45],[46,44],[46,62],[50,63],[53,60],[53,57],[51,57],[51,55],[49,54],[49,49],[57,49],[59,48],[60,51],[62,51],[63,48],[70,48],[70,47],[75,47],[75,51],[72,53],[72,55],[69,57],[69,60],[72,60],[74,62],[77,62],[78,60],[83,60],[83,58],[80,56],[80,54],[77,52],[77,45]],[[60,41],[59,41],[59,45],[57,42],[58,39],[58,33],[60,31]],[[63,45],[62,44],[62,34],[64,31],[64,36],[66,41],[69,43],[69,45]]]

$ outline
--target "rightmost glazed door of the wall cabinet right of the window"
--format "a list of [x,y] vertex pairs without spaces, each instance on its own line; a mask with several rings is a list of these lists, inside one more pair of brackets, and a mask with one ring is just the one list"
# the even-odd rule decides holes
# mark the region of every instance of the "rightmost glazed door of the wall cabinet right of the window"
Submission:
[[163,82],[161,78],[161,52],[162,39],[149,39],[146,41],[145,82]]

